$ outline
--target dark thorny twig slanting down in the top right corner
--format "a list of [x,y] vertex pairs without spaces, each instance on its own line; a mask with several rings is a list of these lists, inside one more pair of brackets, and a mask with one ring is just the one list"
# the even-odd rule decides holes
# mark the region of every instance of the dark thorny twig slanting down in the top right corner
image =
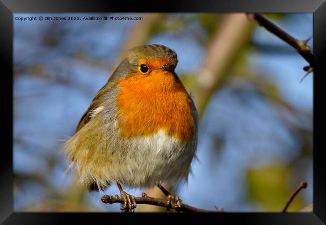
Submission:
[[[306,43],[308,42],[308,39],[306,40],[298,40],[282,30],[280,27],[275,25],[272,21],[270,21],[266,16],[264,16],[262,13],[247,13],[248,18],[250,20],[256,20],[259,25],[265,27],[270,32],[274,33],[276,36],[284,40],[286,43],[290,44],[292,47],[294,47],[298,53],[307,61],[309,62],[309,66],[313,67],[313,54],[311,52],[311,47],[308,46]],[[307,71],[307,70],[306,70]]]

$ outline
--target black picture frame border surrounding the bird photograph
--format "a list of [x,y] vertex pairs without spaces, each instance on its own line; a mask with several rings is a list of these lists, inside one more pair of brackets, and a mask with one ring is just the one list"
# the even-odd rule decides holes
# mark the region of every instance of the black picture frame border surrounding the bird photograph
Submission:
[[[75,223],[86,222],[85,217],[91,221],[109,222],[113,217],[126,222],[133,219],[141,222],[152,222],[157,216],[169,216],[171,222],[175,219],[192,219],[199,217],[202,221],[214,223],[232,223],[235,221],[249,224],[324,224],[326,223],[326,173],[322,157],[322,144],[316,134],[322,134],[321,113],[322,95],[319,85],[321,77],[326,74],[324,59],[326,52],[326,3],[325,0],[166,0],[147,3],[139,1],[86,1],[86,0],[0,0],[0,49],[2,72],[2,128],[6,143],[2,147],[0,163],[0,222],[3,224],[58,224],[68,221]],[[313,213],[28,213],[13,211],[13,111],[12,120],[7,113],[12,106],[14,98],[9,97],[13,92],[13,13],[18,12],[313,12],[313,48],[314,48],[314,74],[313,74]],[[302,70],[303,73],[303,70]],[[13,109],[14,110],[14,109]],[[12,122],[12,123],[11,123]],[[11,123],[11,124],[10,124]],[[3,126],[3,125],[6,126]],[[5,128],[6,127],[6,128]],[[12,127],[12,128],[11,128]],[[7,135],[7,136],[5,136]],[[11,143],[10,143],[11,142]],[[9,143],[7,145],[7,143]],[[320,143],[318,145],[318,143]],[[320,147],[321,146],[321,147]],[[22,196],[24,197],[24,196]],[[146,215],[145,220],[143,219]],[[113,217],[112,217],[113,216]],[[123,217],[122,217],[123,216]],[[140,217],[141,218],[140,218]],[[205,217],[204,217],[205,216]],[[203,220],[206,217],[211,217]],[[213,220],[214,219],[214,220]]]

